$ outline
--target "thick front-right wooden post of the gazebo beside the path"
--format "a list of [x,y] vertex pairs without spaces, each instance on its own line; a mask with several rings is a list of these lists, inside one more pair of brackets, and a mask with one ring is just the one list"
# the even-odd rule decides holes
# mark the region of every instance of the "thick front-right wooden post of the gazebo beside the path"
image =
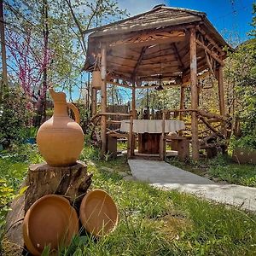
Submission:
[[[190,82],[191,82],[191,108],[198,108],[197,93],[197,63],[196,63],[196,37],[195,28],[190,30]],[[197,113],[191,113],[191,132],[192,132],[192,158],[199,160],[199,141],[198,141],[198,119]]]

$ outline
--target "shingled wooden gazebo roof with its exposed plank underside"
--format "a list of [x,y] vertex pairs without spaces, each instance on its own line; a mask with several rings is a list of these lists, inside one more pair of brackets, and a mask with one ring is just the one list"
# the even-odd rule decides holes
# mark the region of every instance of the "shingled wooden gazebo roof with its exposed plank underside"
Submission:
[[[205,13],[160,5],[143,14],[86,31],[92,33],[84,70],[93,69],[101,45],[107,44],[107,69],[113,78],[148,80],[161,75],[164,79],[184,79],[189,75],[191,27],[201,32],[198,40],[203,40],[202,44],[209,48],[208,54],[224,60],[223,48],[230,46]],[[198,72],[209,68],[203,46],[198,47],[197,63]]]

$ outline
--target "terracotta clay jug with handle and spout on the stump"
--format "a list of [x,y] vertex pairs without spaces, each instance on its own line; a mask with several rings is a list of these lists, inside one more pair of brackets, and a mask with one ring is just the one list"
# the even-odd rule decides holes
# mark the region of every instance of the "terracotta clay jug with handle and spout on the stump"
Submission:
[[[66,102],[64,92],[50,88],[49,93],[54,101],[54,114],[38,130],[38,149],[49,166],[73,166],[84,147],[79,110]],[[73,111],[75,121],[68,116],[67,108]]]

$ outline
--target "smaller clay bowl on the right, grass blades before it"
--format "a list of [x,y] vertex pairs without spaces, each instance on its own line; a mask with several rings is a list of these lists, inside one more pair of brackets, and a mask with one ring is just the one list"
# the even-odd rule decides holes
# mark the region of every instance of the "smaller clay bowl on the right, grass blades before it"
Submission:
[[101,189],[84,196],[79,215],[84,229],[94,236],[107,235],[118,223],[117,207],[111,196]]

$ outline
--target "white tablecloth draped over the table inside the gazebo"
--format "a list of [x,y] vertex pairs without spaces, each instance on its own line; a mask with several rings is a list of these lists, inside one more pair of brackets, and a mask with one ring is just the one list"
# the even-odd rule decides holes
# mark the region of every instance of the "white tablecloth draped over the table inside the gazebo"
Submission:
[[[180,131],[185,128],[183,121],[179,120],[166,120],[165,132],[175,132]],[[130,120],[122,120],[120,131],[130,131]],[[133,120],[133,132],[137,133],[161,133],[162,132],[162,120]]]

